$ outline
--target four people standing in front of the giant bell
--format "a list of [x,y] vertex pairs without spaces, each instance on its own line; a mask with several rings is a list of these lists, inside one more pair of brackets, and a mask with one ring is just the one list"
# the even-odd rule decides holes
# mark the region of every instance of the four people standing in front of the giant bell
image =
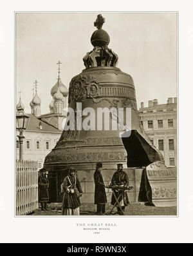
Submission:
[[[41,210],[47,210],[47,202],[49,201],[49,181],[46,177],[46,170],[40,170],[41,175],[38,179],[39,184],[39,202],[41,202]],[[103,215],[106,213],[106,188],[102,177],[102,162],[96,164],[94,173],[95,181],[95,199],[96,214]],[[123,170],[123,164],[117,164],[117,171],[113,174],[110,186],[129,186],[127,173]],[[117,208],[121,215],[125,206],[129,204],[129,199],[126,191],[113,190],[111,204]],[[82,188],[78,179],[77,171],[69,168],[68,175],[64,177],[61,184],[62,199],[62,215],[80,215],[80,197],[82,196]],[[118,199],[118,202],[117,202]]]

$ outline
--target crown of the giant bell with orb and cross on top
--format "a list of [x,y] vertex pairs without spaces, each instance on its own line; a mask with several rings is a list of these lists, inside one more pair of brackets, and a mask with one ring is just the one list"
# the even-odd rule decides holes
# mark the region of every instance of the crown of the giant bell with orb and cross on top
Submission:
[[87,52],[83,58],[86,68],[93,68],[94,66],[116,66],[118,61],[118,55],[108,48],[110,37],[105,30],[102,30],[104,22],[104,17],[98,14],[94,22],[94,26],[98,30],[91,36],[91,44],[93,44],[94,49],[91,52]]

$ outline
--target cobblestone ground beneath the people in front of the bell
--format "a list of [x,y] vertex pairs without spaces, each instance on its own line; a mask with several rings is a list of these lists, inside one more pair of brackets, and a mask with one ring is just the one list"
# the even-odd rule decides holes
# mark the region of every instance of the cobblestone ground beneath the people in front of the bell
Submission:
[[[106,212],[111,211],[112,206],[110,204],[106,204]],[[80,215],[96,215],[96,206],[94,204],[82,204],[80,206]],[[61,204],[60,203],[50,203],[48,204],[48,211],[43,212],[39,208],[36,212],[32,213],[32,215],[61,215]],[[116,213],[116,208],[113,210],[114,215],[118,215]],[[112,215],[113,215],[112,214]],[[154,207],[154,206],[145,206],[139,203],[131,203],[129,206],[125,208],[124,215],[177,215],[176,207]]]

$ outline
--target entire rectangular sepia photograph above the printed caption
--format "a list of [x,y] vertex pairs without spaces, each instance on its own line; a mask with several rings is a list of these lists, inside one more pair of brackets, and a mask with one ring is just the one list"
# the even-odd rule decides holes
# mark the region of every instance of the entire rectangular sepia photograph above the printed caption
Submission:
[[178,12],[15,12],[15,217],[178,217]]

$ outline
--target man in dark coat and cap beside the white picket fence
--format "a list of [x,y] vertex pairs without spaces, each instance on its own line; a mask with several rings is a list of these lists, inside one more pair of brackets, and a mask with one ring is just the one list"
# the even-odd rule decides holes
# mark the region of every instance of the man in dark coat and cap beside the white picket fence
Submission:
[[45,168],[42,168],[39,170],[41,172],[41,175],[38,178],[38,197],[39,202],[41,203],[41,210],[47,210],[47,202],[49,201],[49,194],[48,194],[48,188],[49,188],[49,181],[46,177],[46,170]]

